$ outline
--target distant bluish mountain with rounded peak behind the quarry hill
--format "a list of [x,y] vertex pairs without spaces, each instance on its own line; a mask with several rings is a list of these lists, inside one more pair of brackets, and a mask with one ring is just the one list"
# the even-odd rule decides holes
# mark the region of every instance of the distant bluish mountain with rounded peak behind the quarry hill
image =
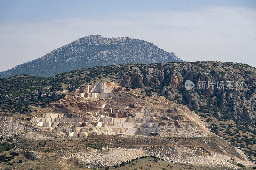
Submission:
[[57,48],[27,63],[0,72],[0,78],[16,74],[52,77],[62,72],[85,67],[121,63],[166,63],[182,61],[153,43],[128,37],[105,38],[90,35]]

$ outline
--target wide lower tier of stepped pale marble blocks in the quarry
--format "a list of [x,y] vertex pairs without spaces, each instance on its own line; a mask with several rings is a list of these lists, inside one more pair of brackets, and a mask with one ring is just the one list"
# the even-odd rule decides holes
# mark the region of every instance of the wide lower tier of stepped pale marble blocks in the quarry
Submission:
[[66,133],[69,137],[88,135],[150,135],[159,132],[159,124],[154,114],[136,114],[135,117],[107,117],[94,113],[90,117],[67,117],[64,114],[48,113],[42,117],[31,118],[37,126],[49,131]]

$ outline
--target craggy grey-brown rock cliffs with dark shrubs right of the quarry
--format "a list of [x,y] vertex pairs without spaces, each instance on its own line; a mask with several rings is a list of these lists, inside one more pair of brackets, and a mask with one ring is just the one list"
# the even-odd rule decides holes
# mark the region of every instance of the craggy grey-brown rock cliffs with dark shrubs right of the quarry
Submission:
[[[199,112],[212,112],[216,116],[224,112],[230,115],[224,119],[238,116],[255,122],[256,70],[253,67],[221,62],[158,63],[150,66],[131,63],[130,67],[132,71],[118,79],[120,84],[144,85],[171,100],[181,97],[179,100],[183,104]],[[194,82],[195,87],[186,90],[186,80]],[[200,82],[204,85],[198,88]],[[220,82],[224,82],[224,88],[218,88]],[[239,82],[244,83],[243,87],[239,87]]]

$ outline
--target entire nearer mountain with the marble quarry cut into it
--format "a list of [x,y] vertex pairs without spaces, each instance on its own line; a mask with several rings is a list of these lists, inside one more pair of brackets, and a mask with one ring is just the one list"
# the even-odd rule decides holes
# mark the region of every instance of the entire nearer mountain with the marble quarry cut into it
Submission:
[[[244,84],[236,89],[236,81]],[[197,88],[203,82],[205,88]],[[19,159],[74,166],[129,167],[129,160],[151,155],[202,169],[254,167],[255,89],[256,68],[229,62],[125,63],[51,78],[22,74],[0,80],[0,136],[17,143]],[[157,162],[148,159],[144,167]]]

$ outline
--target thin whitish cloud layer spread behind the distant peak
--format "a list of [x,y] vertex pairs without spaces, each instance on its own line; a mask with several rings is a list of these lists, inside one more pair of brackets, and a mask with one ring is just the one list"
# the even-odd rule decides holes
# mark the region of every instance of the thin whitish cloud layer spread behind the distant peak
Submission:
[[143,39],[185,61],[230,61],[256,66],[255,21],[255,10],[214,6],[200,11],[4,23],[0,25],[0,70],[34,60],[90,34]]

